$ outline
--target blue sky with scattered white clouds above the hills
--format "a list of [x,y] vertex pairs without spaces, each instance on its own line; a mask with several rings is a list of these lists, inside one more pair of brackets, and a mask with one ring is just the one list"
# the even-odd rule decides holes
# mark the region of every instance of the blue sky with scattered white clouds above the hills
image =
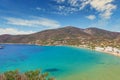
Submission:
[[120,0],[0,0],[0,35],[65,26],[120,32]]

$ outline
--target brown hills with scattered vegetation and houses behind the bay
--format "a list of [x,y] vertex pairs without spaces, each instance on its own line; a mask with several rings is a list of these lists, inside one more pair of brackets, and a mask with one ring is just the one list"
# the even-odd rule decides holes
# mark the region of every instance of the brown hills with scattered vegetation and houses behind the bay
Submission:
[[[119,42],[120,33],[99,28],[80,29],[67,26],[58,29],[44,30],[29,35],[0,35],[0,43],[26,43],[40,45],[96,45],[107,42]],[[108,43],[109,44],[109,43]]]

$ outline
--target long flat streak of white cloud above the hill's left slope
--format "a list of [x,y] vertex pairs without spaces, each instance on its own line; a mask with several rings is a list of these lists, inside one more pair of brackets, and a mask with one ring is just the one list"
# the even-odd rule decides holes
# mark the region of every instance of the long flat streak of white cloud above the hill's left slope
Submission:
[[4,18],[7,24],[17,25],[17,26],[27,26],[27,27],[46,27],[46,28],[58,28],[60,27],[59,22],[47,18],[34,17],[32,19],[22,19],[22,18]]

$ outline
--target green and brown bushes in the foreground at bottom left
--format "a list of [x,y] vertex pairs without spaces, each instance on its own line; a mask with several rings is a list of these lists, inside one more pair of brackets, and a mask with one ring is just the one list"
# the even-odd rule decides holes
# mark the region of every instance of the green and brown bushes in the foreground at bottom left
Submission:
[[0,75],[0,80],[55,80],[48,78],[48,73],[41,73],[40,70],[27,71],[21,74],[18,70],[7,71]]

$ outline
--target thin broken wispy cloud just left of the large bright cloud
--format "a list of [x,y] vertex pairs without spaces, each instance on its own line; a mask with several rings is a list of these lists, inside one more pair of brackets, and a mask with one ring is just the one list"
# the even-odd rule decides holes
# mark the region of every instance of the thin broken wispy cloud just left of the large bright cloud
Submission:
[[56,12],[53,12],[53,13],[60,14],[60,15],[69,15],[74,12],[80,11],[78,8],[80,3],[79,0],[55,0],[55,1],[56,3],[59,3],[59,4],[54,6],[54,8],[56,8]]

